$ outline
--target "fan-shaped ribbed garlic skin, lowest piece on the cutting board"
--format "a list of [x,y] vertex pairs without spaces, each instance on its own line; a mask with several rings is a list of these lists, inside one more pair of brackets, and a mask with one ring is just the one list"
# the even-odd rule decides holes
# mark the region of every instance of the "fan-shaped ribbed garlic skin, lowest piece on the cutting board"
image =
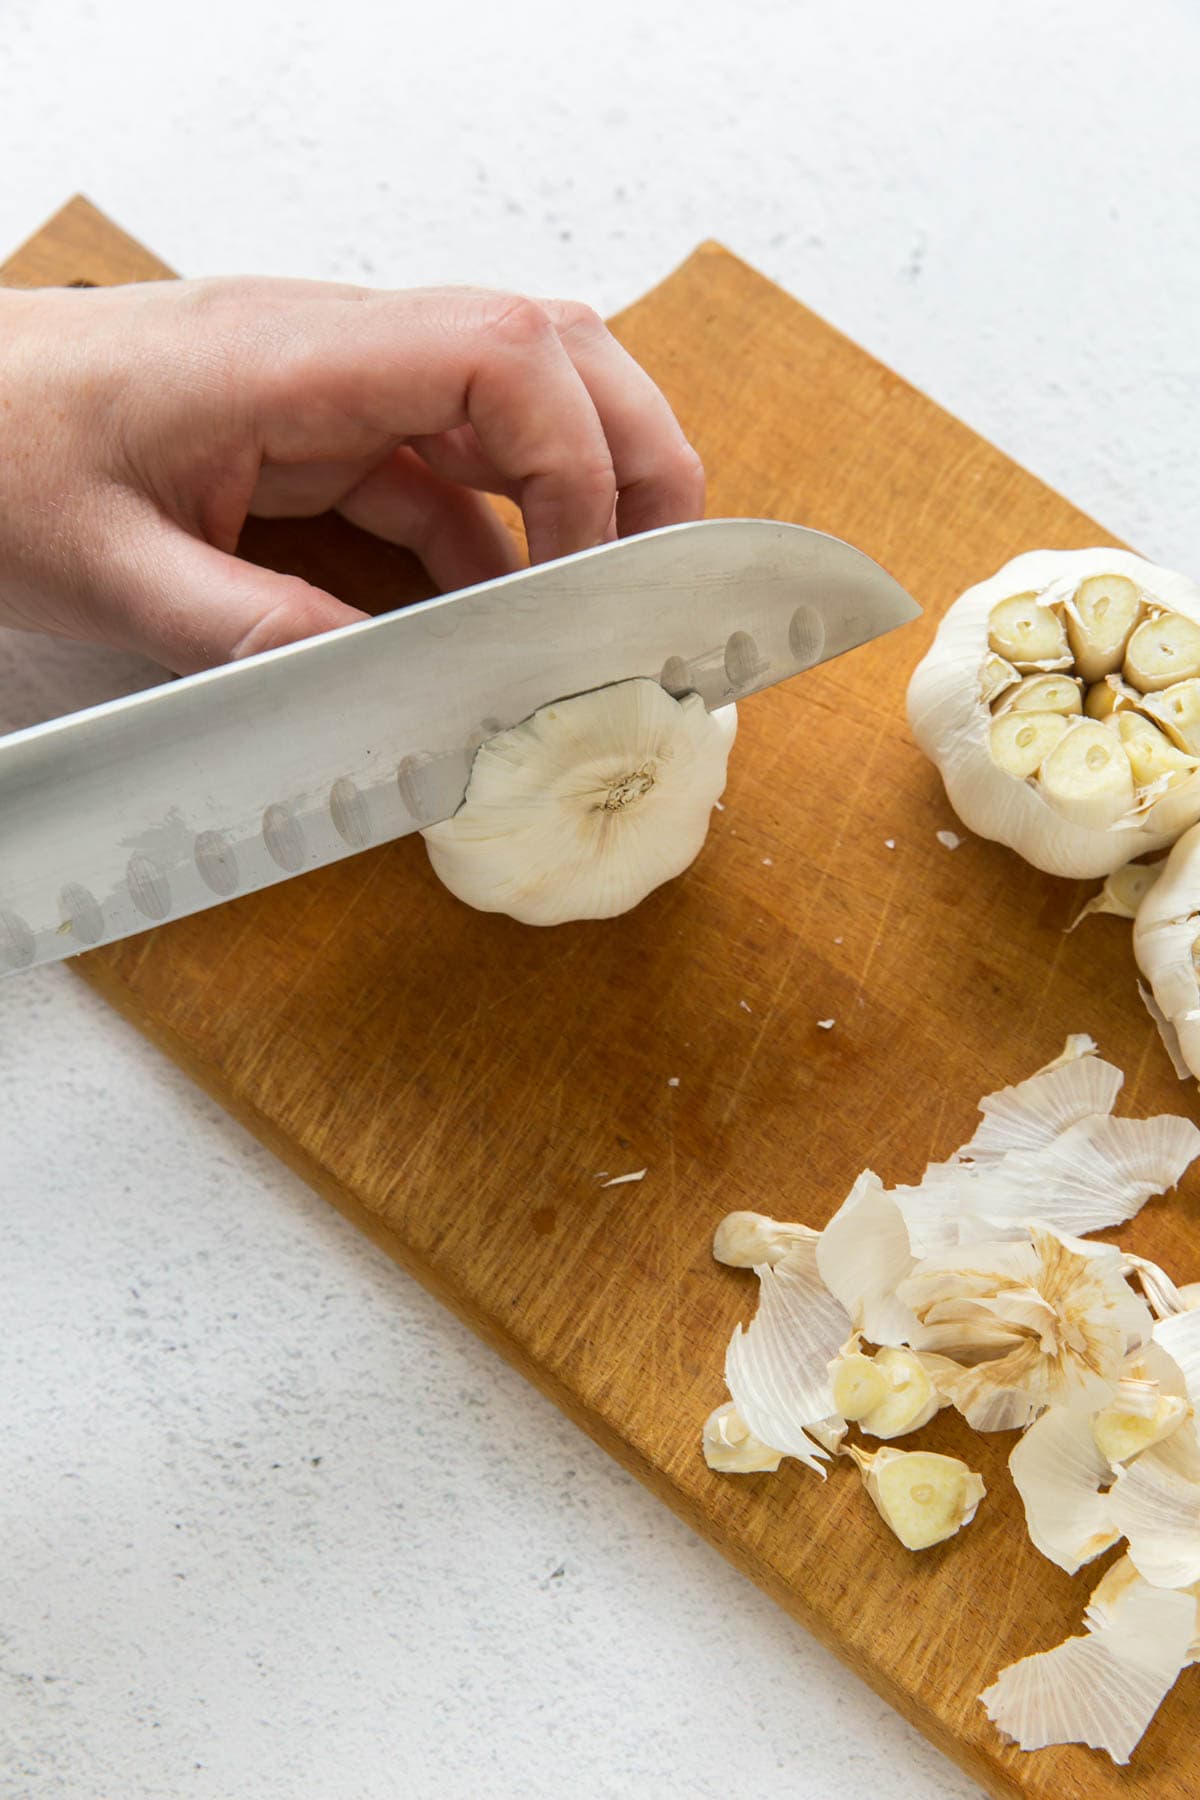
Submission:
[[1187,1665],[1189,1595],[1139,1584],[1119,1616],[1002,1669],[979,1699],[1022,1750],[1088,1744],[1124,1764]]

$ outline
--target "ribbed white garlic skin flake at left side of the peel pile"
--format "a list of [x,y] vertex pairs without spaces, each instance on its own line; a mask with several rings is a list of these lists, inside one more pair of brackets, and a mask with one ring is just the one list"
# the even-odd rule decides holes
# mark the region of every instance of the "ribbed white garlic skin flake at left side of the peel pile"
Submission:
[[763,1264],[759,1307],[738,1325],[725,1354],[725,1384],[763,1444],[824,1476],[824,1449],[808,1427],[837,1415],[829,1364],[851,1332],[849,1316],[808,1271]]

